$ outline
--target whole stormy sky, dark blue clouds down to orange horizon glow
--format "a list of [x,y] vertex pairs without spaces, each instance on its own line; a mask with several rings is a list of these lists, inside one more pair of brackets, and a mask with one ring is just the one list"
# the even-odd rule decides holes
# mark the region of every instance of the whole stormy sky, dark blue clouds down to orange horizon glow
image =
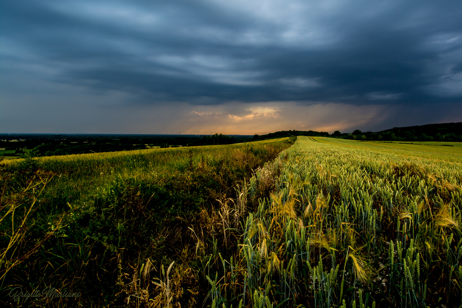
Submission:
[[462,121],[462,2],[3,0],[0,133]]

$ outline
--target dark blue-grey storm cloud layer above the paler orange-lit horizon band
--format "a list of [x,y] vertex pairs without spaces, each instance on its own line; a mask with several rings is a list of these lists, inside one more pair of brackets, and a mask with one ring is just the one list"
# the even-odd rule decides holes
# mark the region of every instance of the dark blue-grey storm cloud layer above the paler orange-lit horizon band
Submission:
[[462,98],[460,1],[5,1],[3,75],[141,103]]

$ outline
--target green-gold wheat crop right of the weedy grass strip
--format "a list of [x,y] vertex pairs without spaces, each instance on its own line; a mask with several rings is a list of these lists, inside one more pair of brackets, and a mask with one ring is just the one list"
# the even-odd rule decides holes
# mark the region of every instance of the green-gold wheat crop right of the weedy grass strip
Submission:
[[244,189],[277,175],[207,277],[212,307],[460,306],[459,149],[298,137]]

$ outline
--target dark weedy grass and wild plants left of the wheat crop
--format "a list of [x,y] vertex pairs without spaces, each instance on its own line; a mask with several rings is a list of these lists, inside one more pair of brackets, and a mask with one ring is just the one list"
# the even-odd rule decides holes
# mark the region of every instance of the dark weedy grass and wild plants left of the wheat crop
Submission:
[[[204,271],[217,264],[197,255],[235,251],[227,241],[233,241],[242,217],[236,214],[237,224],[221,228],[217,223],[231,213],[220,216],[215,209],[235,202],[245,211],[235,189],[294,141],[61,158],[29,155],[3,163],[1,302],[12,307],[157,307],[165,301],[156,297],[153,302],[152,281],[168,285],[165,277],[170,277],[166,296],[174,300],[169,302],[210,304]],[[207,240],[197,242],[190,229]],[[179,266],[169,267],[173,261]],[[46,288],[79,296],[23,297]],[[24,295],[15,297],[18,290]]]

